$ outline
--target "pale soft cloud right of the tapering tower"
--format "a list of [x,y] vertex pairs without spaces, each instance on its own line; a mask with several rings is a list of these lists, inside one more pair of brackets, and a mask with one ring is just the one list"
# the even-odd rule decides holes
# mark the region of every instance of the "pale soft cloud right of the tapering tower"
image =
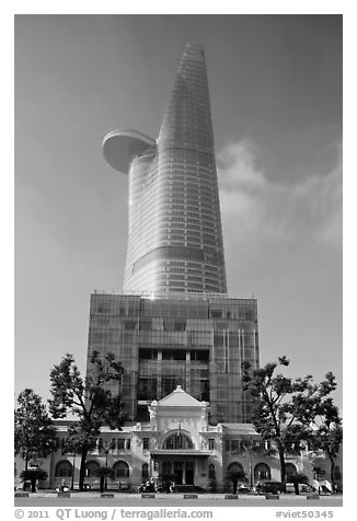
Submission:
[[[270,180],[245,139],[217,155],[223,233],[235,246],[301,242],[335,251],[342,243],[342,153],[334,167],[291,182]],[[228,240],[228,241],[227,241]]]

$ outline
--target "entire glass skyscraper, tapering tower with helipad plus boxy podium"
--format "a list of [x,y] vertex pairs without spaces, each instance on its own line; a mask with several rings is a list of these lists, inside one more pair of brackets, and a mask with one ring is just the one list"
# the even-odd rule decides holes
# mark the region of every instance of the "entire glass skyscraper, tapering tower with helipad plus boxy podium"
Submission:
[[114,130],[104,157],[129,178],[123,294],[91,297],[93,350],[114,352],[129,418],[181,385],[209,421],[249,421],[241,362],[258,364],[255,299],[227,296],[217,172],[203,47],[188,44],[157,141]]

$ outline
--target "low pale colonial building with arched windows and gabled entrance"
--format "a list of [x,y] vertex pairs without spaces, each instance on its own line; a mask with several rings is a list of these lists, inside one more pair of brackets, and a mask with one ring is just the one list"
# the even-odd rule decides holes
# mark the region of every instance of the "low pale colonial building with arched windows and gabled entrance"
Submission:
[[[150,478],[158,485],[160,476],[168,474],[177,486],[230,491],[229,474],[237,470],[244,471],[249,486],[256,482],[280,482],[278,455],[252,424],[210,425],[208,404],[195,400],[181,386],[162,400],[152,401],[148,409],[149,421],[128,424],[120,431],[102,428],[95,449],[87,458],[85,483],[92,489],[100,487],[95,471],[101,466],[114,470],[115,478],[108,481],[108,488],[116,491],[136,491]],[[41,488],[56,488],[62,479],[78,488],[80,455],[62,451],[69,420],[56,425],[58,450],[45,460],[31,460],[30,465],[48,473]],[[287,479],[299,472],[312,483],[316,468],[322,473],[320,477],[324,475],[329,479],[329,461],[322,454],[287,454],[286,463]],[[23,460],[18,459],[16,465],[15,485],[21,487],[19,474]],[[336,468],[336,481],[341,484],[342,454]]]

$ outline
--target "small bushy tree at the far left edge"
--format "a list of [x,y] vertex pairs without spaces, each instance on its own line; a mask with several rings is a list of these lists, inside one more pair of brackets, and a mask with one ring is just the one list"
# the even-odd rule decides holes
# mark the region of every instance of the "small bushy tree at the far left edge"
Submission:
[[25,460],[25,471],[33,455],[46,458],[56,443],[56,428],[46,406],[32,389],[24,389],[18,396],[14,414],[14,450]]

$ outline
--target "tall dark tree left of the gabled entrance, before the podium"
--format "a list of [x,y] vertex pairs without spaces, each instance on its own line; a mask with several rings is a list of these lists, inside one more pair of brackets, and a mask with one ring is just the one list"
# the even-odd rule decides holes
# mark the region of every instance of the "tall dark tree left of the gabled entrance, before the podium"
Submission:
[[108,385],[118,382],[120,387],[124,369],[108,352],[100,358],[93,351],[91,370],[81,375],[72,355],[67,354],[50,372],[49,410],[54,418],[64,418],[68,413],[78,420],[68,430],[67,447],[81,455],[79,489],[83,490],[85,461],[102,426],[122,430],[125,416],[120,394],[113,394]]

